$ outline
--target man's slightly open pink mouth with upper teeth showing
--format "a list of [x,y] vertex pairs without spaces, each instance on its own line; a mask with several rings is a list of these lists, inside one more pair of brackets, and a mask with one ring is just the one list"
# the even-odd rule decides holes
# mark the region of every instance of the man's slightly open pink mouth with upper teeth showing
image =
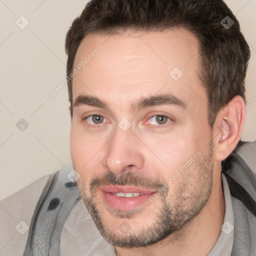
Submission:
[[156,193],[155,189],[132,186],[101,186],[99,192],[103,201],[112,209],[129,211],[149,203],[149,197]]

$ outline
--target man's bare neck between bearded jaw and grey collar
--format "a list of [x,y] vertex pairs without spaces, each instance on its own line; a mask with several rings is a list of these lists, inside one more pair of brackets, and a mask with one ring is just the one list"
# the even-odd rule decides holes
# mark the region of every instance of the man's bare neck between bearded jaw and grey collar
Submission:
[[197,216],[158,243],[136,248],[115,247],[116,255],[207,255],[217,241],[225,214],[221,173],[216,172],[209,199]]

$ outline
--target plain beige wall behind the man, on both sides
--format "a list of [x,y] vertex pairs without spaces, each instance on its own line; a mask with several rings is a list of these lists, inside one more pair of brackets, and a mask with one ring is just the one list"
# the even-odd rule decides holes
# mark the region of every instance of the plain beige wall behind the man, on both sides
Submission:
[[[86,2],[0,0],[0,199],[71,162],[67,87],[51,100],[46,95],[65,78],[65,34]],[[242,140],[255,140],[256,0],[226,3],[251,49]]]

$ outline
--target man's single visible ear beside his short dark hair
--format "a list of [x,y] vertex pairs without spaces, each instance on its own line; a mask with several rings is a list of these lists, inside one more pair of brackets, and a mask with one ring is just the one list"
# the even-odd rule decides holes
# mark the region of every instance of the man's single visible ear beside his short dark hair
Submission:
[[215,160],[224,160],[235,148],[242,133],[245,121],[245,103],[241,96],[234,96],[222,108],[214,122]]

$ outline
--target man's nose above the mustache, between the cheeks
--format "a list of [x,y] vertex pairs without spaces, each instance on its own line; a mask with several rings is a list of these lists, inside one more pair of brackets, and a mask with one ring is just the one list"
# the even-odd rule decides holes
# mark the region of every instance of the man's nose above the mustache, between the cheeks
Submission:
[[131,128],[123,131],[117,127],[115,135],[105,146],[102,165],[116,174],[141,169],[144,165],[144,157],[140,143]]

